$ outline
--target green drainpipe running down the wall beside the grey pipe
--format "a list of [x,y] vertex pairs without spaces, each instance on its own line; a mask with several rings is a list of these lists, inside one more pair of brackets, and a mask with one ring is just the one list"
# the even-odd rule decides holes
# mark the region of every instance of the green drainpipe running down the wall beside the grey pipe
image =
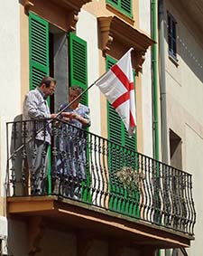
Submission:
[[[152,0],[152,40],[157,40],[157,0]],[[152,88],[153,88],[153,129],[154,157],[159,160],[159,122],[158,122],[158,81],[157,81],[157,43],[152,45]]]

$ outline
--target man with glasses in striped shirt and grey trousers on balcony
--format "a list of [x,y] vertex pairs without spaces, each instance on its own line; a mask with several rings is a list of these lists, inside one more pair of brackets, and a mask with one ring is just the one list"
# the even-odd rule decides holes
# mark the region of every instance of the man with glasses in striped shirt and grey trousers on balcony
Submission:
[[51,124],[57,114],[51,114],[47,98],[54,93],[56,81],[44,77],[39,87],[30,90],[23,102],[23,120],[26,120],[26,153],[31,177],[31,194],[45,192],[48,171],[48,147],[51,144]]

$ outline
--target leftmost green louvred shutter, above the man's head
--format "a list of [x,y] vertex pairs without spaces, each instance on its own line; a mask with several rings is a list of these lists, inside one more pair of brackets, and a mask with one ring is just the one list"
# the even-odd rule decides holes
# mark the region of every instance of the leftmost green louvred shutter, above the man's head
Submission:
[[36,88],[49,67],[49,23],[29,13],[30,90]]

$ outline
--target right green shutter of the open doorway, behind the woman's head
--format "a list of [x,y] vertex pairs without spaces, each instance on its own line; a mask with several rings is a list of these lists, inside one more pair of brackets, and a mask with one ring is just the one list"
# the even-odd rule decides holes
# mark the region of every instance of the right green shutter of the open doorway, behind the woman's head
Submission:
[[[74,33],[69,33],[69,86],[88,87],[87,43]],[[88,92],[81,103],[88,105]]]

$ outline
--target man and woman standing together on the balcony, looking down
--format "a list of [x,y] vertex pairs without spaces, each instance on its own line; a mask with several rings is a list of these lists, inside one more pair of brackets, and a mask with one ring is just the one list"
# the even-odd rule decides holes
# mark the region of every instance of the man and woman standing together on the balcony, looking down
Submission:
[[[61,120],[56,137],[58,147],[55,163],[57,179],[65,177],[67,184],[69,184],[69,180],[75,179],[77,184],[86,178],[86,166],[84,165],[86,138],[79,128],[90,126],[90,119],[88,118],[88,107],[79,103],[81,97],[78,95],[83,90],[77,85],[70,87],[69,103],[72,101],[73,103],[70,105],[64,103],[60,106],[59,114],[51,114],[47,98],[54,93],[55,86],[54,79],[44,77],[36,89],[27,93],[23,102],[23,119],[26,120],[28,132],[26,154],[32,195],[46,194],[51,119],[59,118]],[[75,100],[77,97],[78,99]],[[70,183],[73,185],[72,181]],[[75,186],[78,187],[78,185]],[[58,194],[59,191],[56,193]],[[71,191],[69,193],[70,196],[73,195]]]

